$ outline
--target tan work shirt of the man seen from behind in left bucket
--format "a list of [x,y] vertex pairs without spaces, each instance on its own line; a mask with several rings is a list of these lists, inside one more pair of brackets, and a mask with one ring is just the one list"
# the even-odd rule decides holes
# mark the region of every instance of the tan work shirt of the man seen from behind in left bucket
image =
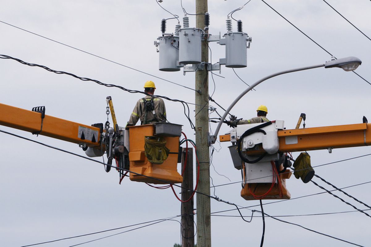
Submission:
[[[145,99],[151,99],[151,96],[146,95]],[[166,109],[165,103],[161,98],[153,98],[154,111],[148,111],[147,113],[147,123],[156,123],[156,122],[165,122],[166,121]],[[155,119],[155,114],[157,120]],[[134,107],[133,112],[131,113],[128,124],[135,125],[140,119],[143,123],[145,115],[145,106],[144,100],[139,99],[137,104]]]

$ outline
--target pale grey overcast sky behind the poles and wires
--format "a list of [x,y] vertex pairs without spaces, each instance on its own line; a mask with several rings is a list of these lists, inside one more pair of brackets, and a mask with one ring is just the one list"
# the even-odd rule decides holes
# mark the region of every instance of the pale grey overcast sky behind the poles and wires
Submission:
[[[357,73],[371,83],[371,40],[365,37],[324,1],[267,0],[270,6],[311,37],[332,55],[341,58],[356,56],[362,60]],[[153,45],[161,35],[160,21],[171,15],[155,0],[149,1],[72,1],[72,0],[1,0],[1,54],[51,69],[67,71],[127,89],[142,90],[147,80],[156,84],[156,94],[189,102],[194,121],[194,73],[158,70],[158,53]],[[210,0],[210,33],[226,32],[227,14],[243,6],[246,0]],[[371,1],[328,0],[339,13],[359,30],[371,37]],[[161,6],[183,17],[180,1],[164,0]],[[183,0],[188,13],[195,12],[195,1]],[[252,0],[233,14],[243,21],[243,30],[252,37],[247,50],[247,67],[235,69],[244,82],[255,81],[278,71],[324,63],[331,56],[280,17],[261,0]],[[33,33],[87,51],[105,59],[63,46],[60,43],[4,24],[12,24]],[[167,32],[173,32],[176,20],[167,22]],[[195,26],[190,16],[190,26]],[[236,23],[233,23],[236,30]],[[211,63],[225,56],[224,46],[210,43]],[[214,73],[219,74],[219,71]],[[153,76],[151,76],[153,75]],[[170,80],[190,87],[158,79]],[[209,93],[224,109],[247,88],[230,68],[221,66],[220,76],[209,77]],[[99,86],[90,81],[50,73],[14,60],[0,59],[1,103],[31,110],[46,106],[46,114],[82,124],[106,121],[106,96],[111,96],[118,124],[125,126],[142,94],[131,94],[116,88]],[[295,128],[298,117],[306,113],[306,127],[361,123],[371,120],[371,84],[352,72],[341,69],[311,69],[269,79],[244,96],[231,113],[249,119],[260,104],[268,107],[270,120],[285,121],[286,128]],[[182,124],[183,132],[194,140],[180,103],[165,100],[168,120]],[[223,109],[214,103],[218,113]],[[217,117],[210,112],[210,117]],[[210,124],[213,132],[216,124]],[[1,130],[84,155],[77,144],[25,131],[0,126]],[[219,134],[230,127],[223,125]],[[0,245],[23,246],[72,237],[116,227],[169,218],[180,214],[180,202],[173,192],[156,190],[144,183],[125,178],[121,185],[118,173],[106,173],[104,167],[80,157],[17,137],[0,133]],[[230,143],[214,144],[210,167],[213,184],[240,181],[240,171],[233,167],[229,155]],[[370,147],[353,147],[309,151],[312,166],[371,154]],[[294,152],[296,158],[299,153]],[[355,158],[315,168],[316,174],[337,187],[347,187],[370,181],[370,156]],[[102,160],[101,158],[97,158]],[[178,170],[180,170],[178,168]],[[318,179],[314,181],[329,188]],[[292,198],[322,192],[312,183],[304,184],[292,176],[286,181]],[[370,205],[370,184],[346,189],[346,192]],[[260,210],[258,201],[240,197],[240,183],[211,188],[211,194],[241,207],[244,216],[251,209]],[[179,192],[179,191],[178,191]],[[361,209],[365,206],[346,198]],[[267,200],[264,202],[272,202]],[[195,203],[196,207],[196,203]],[[213,246],[258,246],[262,234],[259,214],[251,223],[237,216],[234,207],[211,199],[211,212],[232,210],[211,216]],[[334,213],[354,208],[329,194],[291,199],[264,206],[265,213],[292,223],[347,240],[361,246],[371,243],[370,218],[359,212],[320,216],[298,214]],[[174,218],[180,220],[180,217]],[[349,246],[348,243],[307,231],[298,226],[265,219],[265,246]],[[141,225],[142,226],[142,225]],[[72,238],[40,246],[71,246],[110,234],[131,230],[124,228],[109,233]],[[173,246],[181,243],[180,223],[164,221],[127,233],[107,237],[81,246]]]

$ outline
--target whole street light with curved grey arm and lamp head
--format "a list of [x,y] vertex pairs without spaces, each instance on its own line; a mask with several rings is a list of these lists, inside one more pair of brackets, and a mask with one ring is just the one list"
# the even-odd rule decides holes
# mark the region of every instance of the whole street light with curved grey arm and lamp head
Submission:
[[209,146],[210,144],[214,144],[215,141],[216,141],[216,137],[219,133],[219,130],[220,130],[220,127],[221,127],[221,124],[223,124],[223,121],[224,119],[226,119],[226,116],[228,115],[229,111],[233,108],[233,106],[250,90],[252,90],[254,87],[256,87],[258,84],[262,83],[263,81],[267,80],[267,79],[270,79],[272,77],[275,77],[275,76],[279,76],[281,74],[287,74],[287,73],[291,73],[291,72],[296,72],[296,71],[301,71],[301,70],[309,70],[309,69],[315,69],[315,68],[319,68],[319,67],[325,67],[325,68],[333,68],[333,67],[338,67],[338,68],[342,68],[343,70],[345,71],[353,71],[355,69],[357,69],[357,67],[359,65],[361,65],[362,61],[361,59],[357,58],[357,57],[344,57],[342,59],[335,59],[335,57],[332,57],[332,60],[330,61],[326,61],[324,64],[318,64],[318,65],[313,65],[313,66],[308,66],[308,67],[302,67],[302,68],[298,68],[298,69],[292,69],[292,70],[284,70],[284,71],[281,71],[281,72],[278,72],[278,73],[274,73],[274,74],[271,74],[270,76],[266,76],[262,79],[260,79],[259,81],[257,81],[256,83],[252,84],[250,87],[248,87],[246,90],[244,90],[233,102],[232,104],[228,107],[228,109],[226,110],[226,112],[223,114],[223,116],[221,117],[220,121],[219,121],[219,124],[218,126],[216,127],[216,130],[214,132],[214,135],[212,136],[209,136],[209,140],[208,140],[208,143],[209,143]]

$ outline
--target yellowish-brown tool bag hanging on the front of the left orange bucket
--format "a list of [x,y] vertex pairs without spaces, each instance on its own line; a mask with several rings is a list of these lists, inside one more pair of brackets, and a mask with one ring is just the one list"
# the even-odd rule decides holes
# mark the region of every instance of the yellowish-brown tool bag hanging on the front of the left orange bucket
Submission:
[[145,136],[144,154],[148,161],[153,164],[164,163],[170,153],[170,150],[165,145],[166,140],[164,137]]

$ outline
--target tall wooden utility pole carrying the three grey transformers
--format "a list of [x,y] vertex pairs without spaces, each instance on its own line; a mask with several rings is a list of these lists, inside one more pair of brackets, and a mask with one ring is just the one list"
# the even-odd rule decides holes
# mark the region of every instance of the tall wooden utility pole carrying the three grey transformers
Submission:
[[[207,0],[196,0],[196,28],[204,29]],[[207,37],[207,36],[206,36]],[[207,39],[205,37],[205,39]],[[209,135],[209,50],[207,40],[201,43],[201,61],[205,69],[196,71],[196,146],[200,162],[200,180],[197,191],[210,195]],[[197,194],[197,247],[211,247],[210,197]]]

